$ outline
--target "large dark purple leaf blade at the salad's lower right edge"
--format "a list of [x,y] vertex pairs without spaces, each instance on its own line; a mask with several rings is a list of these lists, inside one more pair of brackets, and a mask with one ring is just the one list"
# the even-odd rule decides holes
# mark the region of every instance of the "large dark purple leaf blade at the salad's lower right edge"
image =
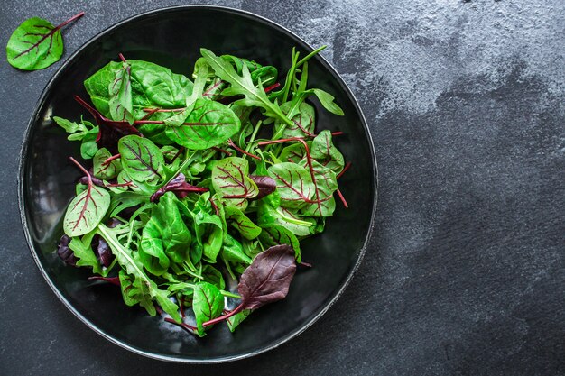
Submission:
[[255,309],[286,297],[295,271],[294,250],[290,245],[275,245],[259,253],[237,286],[242,309]]

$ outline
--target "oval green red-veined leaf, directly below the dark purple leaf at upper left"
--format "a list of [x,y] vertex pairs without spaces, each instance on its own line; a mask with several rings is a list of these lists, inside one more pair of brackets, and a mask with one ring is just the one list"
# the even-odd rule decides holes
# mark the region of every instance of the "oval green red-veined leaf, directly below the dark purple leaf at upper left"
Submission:
[[156,183],[163,178],[165,161],[162,151],[150,140],[131,134],[120,139],[117,150],[131,179]]

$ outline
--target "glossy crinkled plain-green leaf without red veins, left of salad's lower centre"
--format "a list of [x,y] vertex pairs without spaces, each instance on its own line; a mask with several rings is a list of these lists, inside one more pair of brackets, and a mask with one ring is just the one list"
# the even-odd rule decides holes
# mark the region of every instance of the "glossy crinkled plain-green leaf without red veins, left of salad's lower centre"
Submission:
[[140,260],[145,269],[161,275],[172,262],[190,261],[191,235],[182,221],[176,204],[177,199],[169,192],[159,204],[153,205],[151,217],[144,226],[139,248]]

